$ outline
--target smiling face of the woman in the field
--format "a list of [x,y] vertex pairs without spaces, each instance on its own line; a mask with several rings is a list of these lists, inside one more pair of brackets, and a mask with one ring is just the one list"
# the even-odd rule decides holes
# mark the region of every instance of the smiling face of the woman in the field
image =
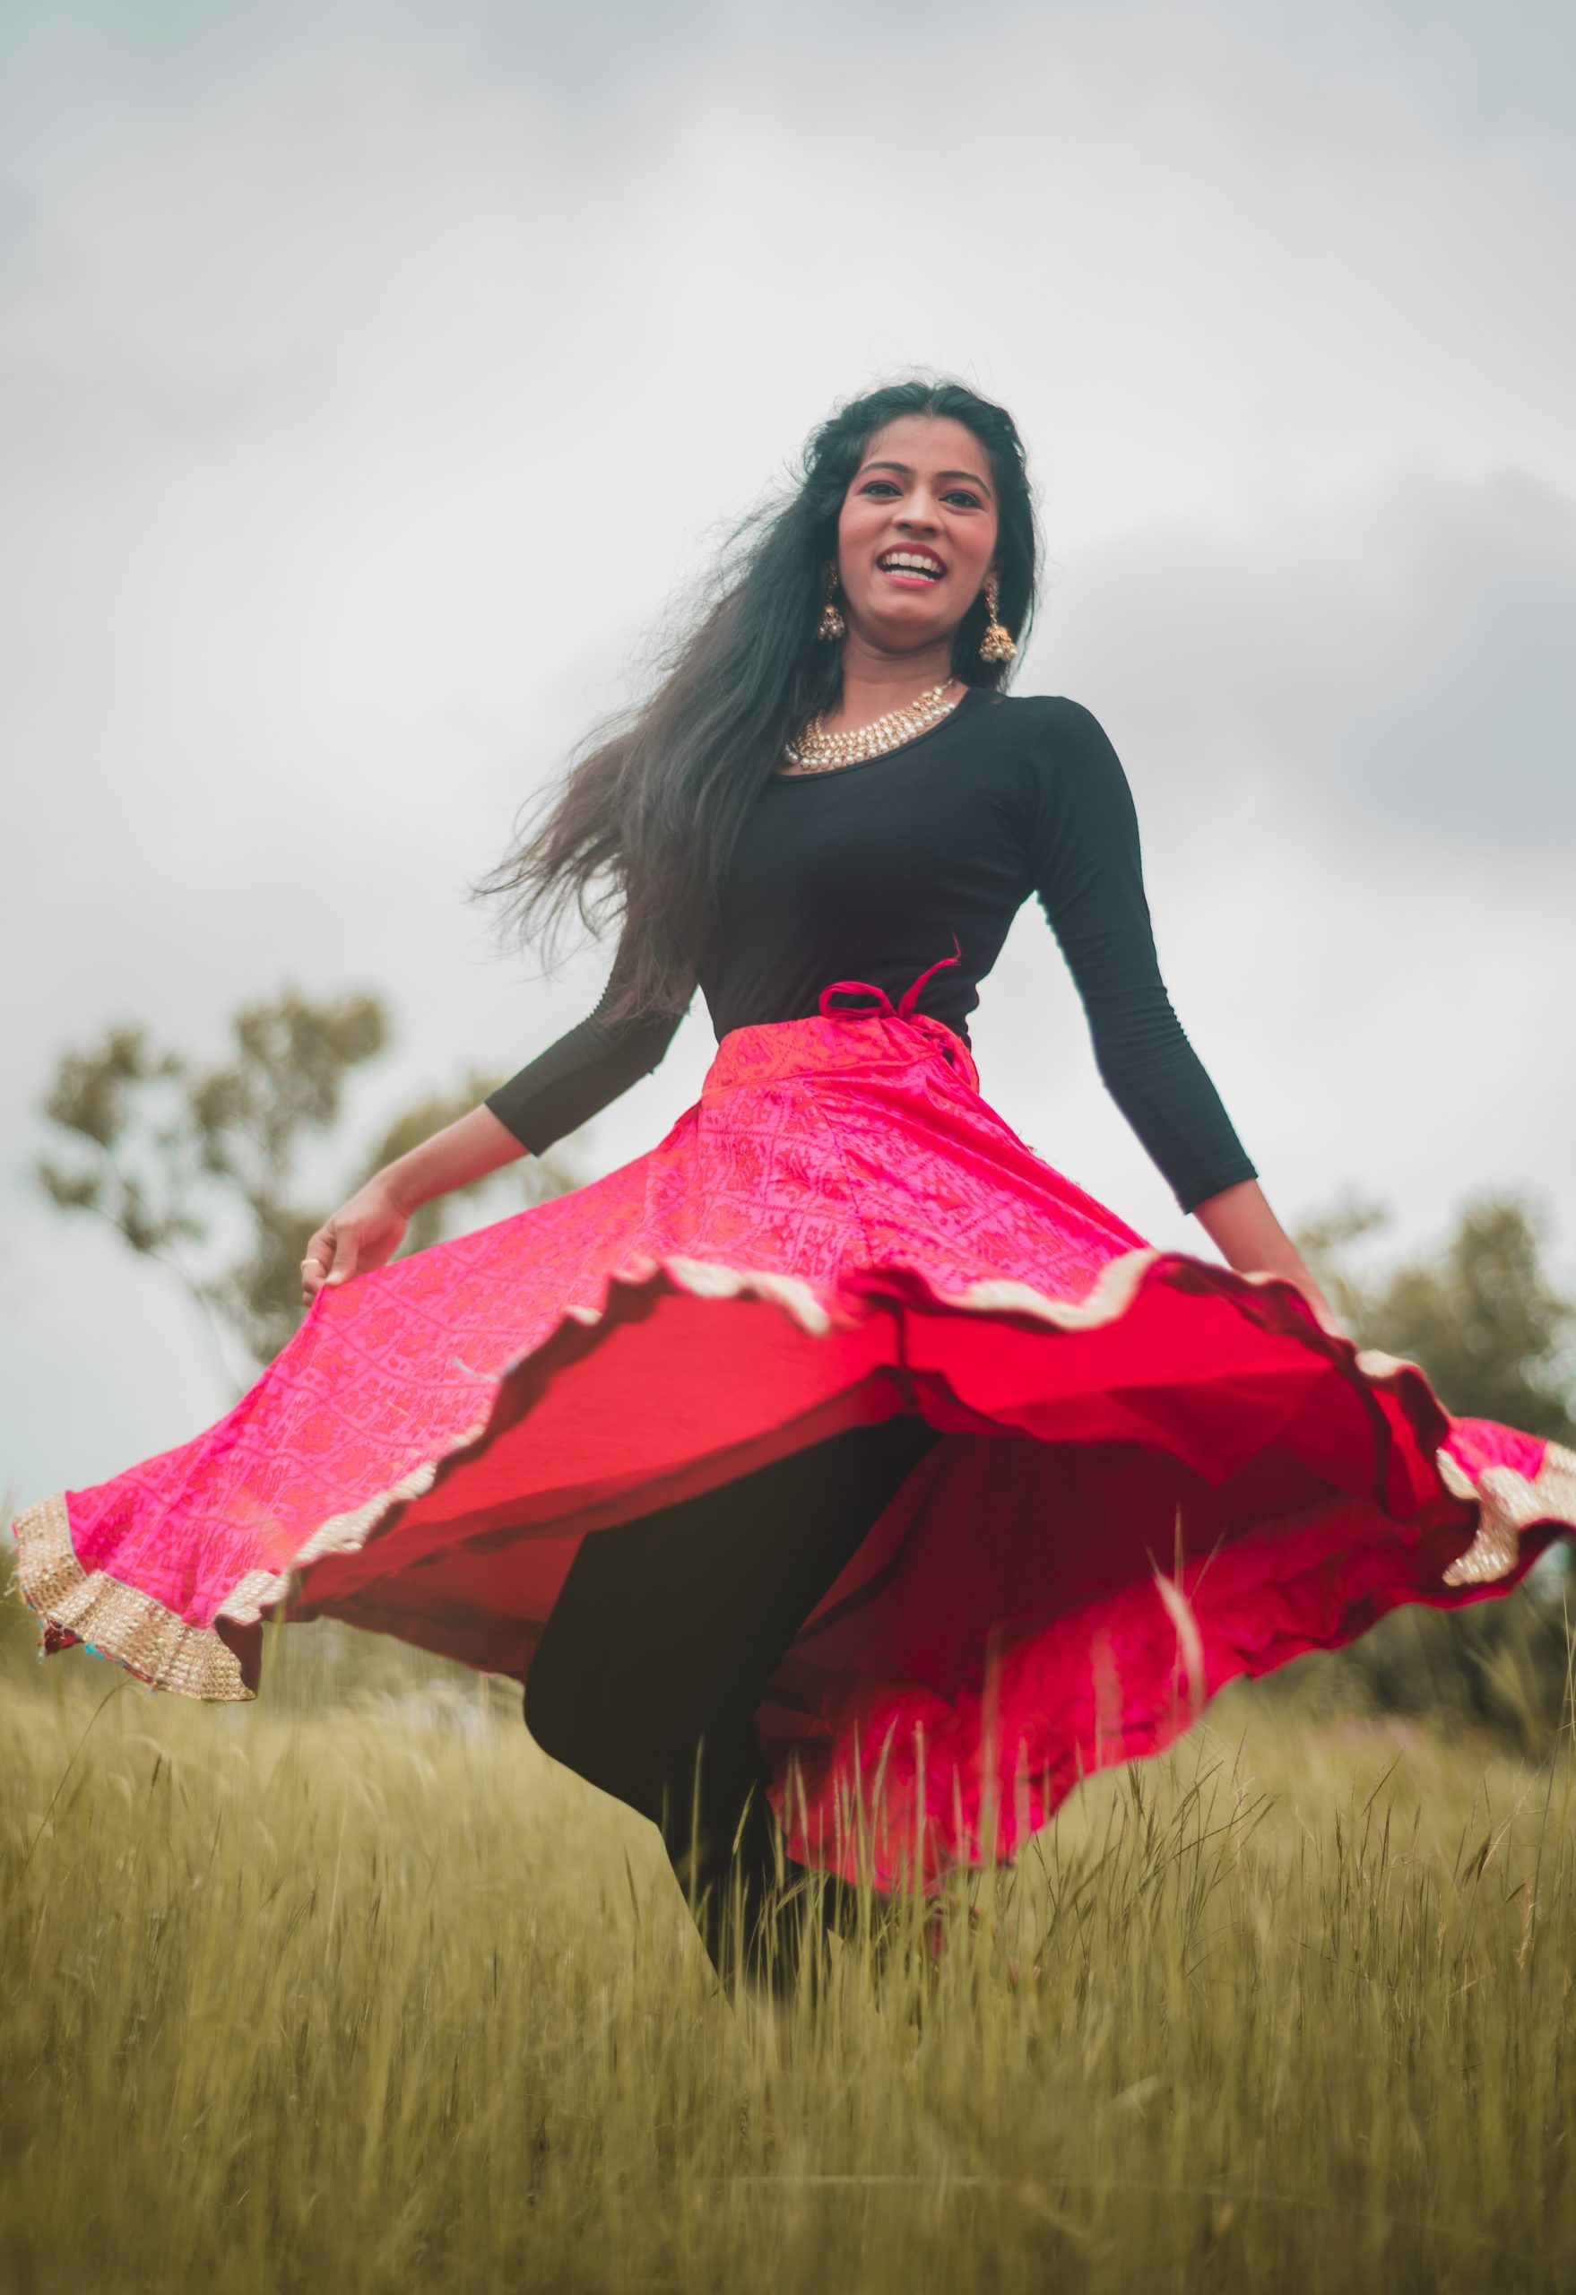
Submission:
[[906,654],[950,638],[996,560],[991,459],[970,429],[902,415],[879,429],[837,519],[837,581],[851,631]]

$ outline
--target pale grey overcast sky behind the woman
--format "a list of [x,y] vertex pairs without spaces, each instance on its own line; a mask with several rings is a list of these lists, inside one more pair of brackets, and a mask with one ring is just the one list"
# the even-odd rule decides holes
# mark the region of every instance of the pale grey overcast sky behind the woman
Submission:
[[[388,994],[351,1131],[580,1017],[466,886],[833,399],[1005,399],[1023,693],[1133,783],[1287,1223],[1526,1189],[1576,1267],[1576,9],[0,0],[0,1483],[225,1405],[28,1170],[67,1044]],[[1025,913],[982,1081],[1207,1251]],[[695,1014],[590,1134],[695,1097]],[[349,1177],[349,1175],[346,1175]],[[333,1203],[323,1203],[323,1212]]]

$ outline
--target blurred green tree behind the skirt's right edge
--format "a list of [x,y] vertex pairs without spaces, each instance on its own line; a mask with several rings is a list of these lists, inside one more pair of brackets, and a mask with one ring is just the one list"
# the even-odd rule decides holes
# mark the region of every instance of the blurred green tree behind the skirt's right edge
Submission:
[[[1420,1363],[1459,1418],[1576,1444],[1576,1306],[1544,1267],[1537,1207],[1482,1196],[1434,1258],[1358,1271],[1351,1246],[1383,1226],[1383,1209],[1347,1198],[1296,1235],[1351,1336]],[[1558,1545],[1507,1602],[1392,1611],[1349,1650],[1287,1668],[1285,1687],[1317,1685],[1319,1703],[1489,1726],[1544,1749],[1569,1691],[1569,1547]]]

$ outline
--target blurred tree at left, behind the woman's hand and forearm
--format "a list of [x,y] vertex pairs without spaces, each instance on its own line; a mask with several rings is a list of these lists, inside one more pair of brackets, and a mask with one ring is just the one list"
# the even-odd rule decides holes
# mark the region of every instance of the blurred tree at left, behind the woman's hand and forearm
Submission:
[[[303,1209],[303,1157],[312,1141],[333,1154],[346,1079],[388,1047],[388,1012],[379,996],[314,1003],[287,989],[236,1012],[229,1035],[220,1067],[158,1049],[142,1028],[115,1028],[64,1053],[44,1111],[78,1152],[71,1164],[39,1164],[37,1177],[55,1205],[108,1219],[133,1251],[170,1267],[209,1336],[227,1324],[266,1363],[301,1322],[301,1255],[326,1209],[358,1177],[475,1108],[496,1079],[470,1074],[459,1090],[408,1108],[369,1159],[335,1159],[353,1177],[312,1184]],[[459,1193],[493,1189],[512,1209],[576,1184],[567,1164],[528,1157]],[[404,1248],[438,1242],[454,1200],[422,1205]]]

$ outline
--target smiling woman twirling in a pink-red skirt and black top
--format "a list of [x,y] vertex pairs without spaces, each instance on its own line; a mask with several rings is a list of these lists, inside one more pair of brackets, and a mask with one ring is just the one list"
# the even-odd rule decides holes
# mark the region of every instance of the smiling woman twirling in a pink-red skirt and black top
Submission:
[[[223,1425],[23,1517],[50,1646],[248,1696],[289,1604],[512,1673],[663,1827],[716,1955],[782,1847],[879,1884],[1009,1857],[1232,1675],[1503,1590],[1576,1519],[1569,1453],[1335,1327],[1172,1014],[1110,744],[1005,695],[1032,594],[1002,409],[915,381],[817,431],[496,877],[532,932],[619,913],[596,1012],[319,1228]],[[1225,1267],[980,1097],[1030,895]],[[647,1074],[697,985],[718,1053],[654,1150],[395,1260],[415,1205]]]

